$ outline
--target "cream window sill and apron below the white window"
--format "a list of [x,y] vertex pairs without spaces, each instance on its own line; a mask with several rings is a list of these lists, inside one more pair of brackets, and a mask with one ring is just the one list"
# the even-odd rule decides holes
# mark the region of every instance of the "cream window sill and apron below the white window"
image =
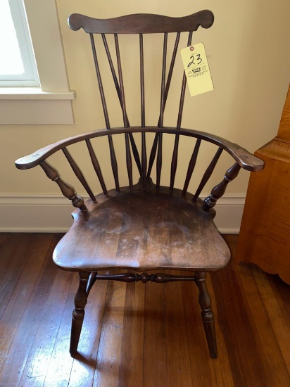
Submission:
[[0,124],[73,124],[75,91],[47,92],[37,87],[0,88]]

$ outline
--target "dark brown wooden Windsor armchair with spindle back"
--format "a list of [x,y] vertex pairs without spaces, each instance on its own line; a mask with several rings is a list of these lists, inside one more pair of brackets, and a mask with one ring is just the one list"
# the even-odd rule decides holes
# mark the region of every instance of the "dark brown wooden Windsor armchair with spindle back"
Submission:
[[[69,25],[72,30],[83,28],[89,34],[96,77],[99,84],[103,114],[106,129],[96,130],[75,137],[58,141],[16,160],[19,169],[30,169],[40,165],[46,176],[56,182],[63,195],[72,201],[74,224],[61,239],[53,252],[56,265],[66,271],[79,272],[80,284],[75,296],[73,310],[72,331],[70,338],[70,353],[75,356],[80,339],[84,307],[87,297],[96,280],[112,279],[115,281],[155,281],[165,283],[170,281],[195,281],[198,286],[198,301],[201,306],[201,316],[206,333],[208,348],[211,357],[217,357],[215,338],[215,324],[211,301],[206,288],[206,272],[217,271],[229,263],[230,253],[227,244],[217,231],[213,218],[213,207],[224,193],[227,184],[237,177],[239,170],[249,171],[263,169],[263,161],[248,153],[244,148],[212,134],[183,129],[182,110],[186,89],[186,77],[183,75],[181,96],[179,99],[178,118],[176,127],[163,126],[165,104],[168,99],[170,81],[175,57],[182,32],[189,32],[187,45],[191,45],[191,38],[199,26],[208,28],[213,24],[213,13],[200,11],[183,18],[169,18],[161,15],[126,15],[119,18],[99,20],[84,15],[70,15]],[[168,76],[166,77],[166,56],[168,34],[176,33]],[[145,125],[145,90],[144,90],[144,47],[143,35],[162,33],[163,63],[161,79],[160,115],[156,127]],[[123,127],[111,128],[103,88],[101,70],[99,66],[94,34],[101,34],[103,46],[108,59],[109,71],[122,109]],[[113,34],[115,39],[115,66],[108,46],[106,34]],[[141,127],[130,126],[125,104],[125,91],[122,77],[120,47],[118,34],[139,35],[139,72],[141,83]],[[147,163],[146,135],[153,136],[151,151],[148,153]],[[127,166],[128,186],[120,188],[117,156],[115,153],[115,137],[125,135],[125,164]],[[171,158],[170,184],[160,185],[160,175],[163,160],[163,136],[174,138],[174,147]],[[136,136],[140,136],[141,145],[137,144]],[[101,170],[101,163],[96,157],[98,146],[92,144],[102,137],[108,138],[108,153],[111,158],[111,169],[115,189],[106,188],[105,177]],[[180,138],[193,139],[192,153],[187,168],[183,189],[175,188],[177,172],[177,156]],[[119,140],[120,141],[120,140]],[[198,151],[201,142],[214,144],[217,150],[201,179],[194,195],[187,192],[191,175],[194,172]],[[92,165],[103,190],[95,196],[87,183],[87,179],[68,150],[73,144],[84,142]],[[103,143],[102,143],[103,144]],[[101,145],[103,146],[103,145]],[[89,195],[85,203],[70,184],[63,181],[58,170],[46,160],[54,153],[62,151],[73,169],[77,179]],[[210,195],[201,201],[198,196],[213,173],[217,160],[222,151],[229,153],[234,164],[225,172],[220,184],[217,184]],[[132,152],[132,154],[131,154]],[[132,161],[132,155],[134,163]],[[151,170],[156,163],[156,182],[151,179]],[[136,166],[135,166],[136,165]],[[133,184],[133,172],[139,172],[139,182]],[[108,168],[106,168],[108,169]],[[185,174],[184,174],[185,175]],[[127,269],[134,270],[122,274],[98,274],[98,270]],[[194,275],[180,276],[174,274],[147,274],[146,270],[178,269],[191,270]],[[138,272],[142,272],[138,274]]]

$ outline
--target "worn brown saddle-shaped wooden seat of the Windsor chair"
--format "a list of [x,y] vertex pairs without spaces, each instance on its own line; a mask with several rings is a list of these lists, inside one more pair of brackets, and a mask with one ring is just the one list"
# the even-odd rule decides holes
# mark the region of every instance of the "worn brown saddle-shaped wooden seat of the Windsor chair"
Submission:
[[[167,191],[167,193],[166,193]],[[53,252],[68,271],[98,269],[218,270],[230,259],[229,248],[201,210],[201,201],[183,198],[175,189],[109,191],[75,210],[74,224]]]

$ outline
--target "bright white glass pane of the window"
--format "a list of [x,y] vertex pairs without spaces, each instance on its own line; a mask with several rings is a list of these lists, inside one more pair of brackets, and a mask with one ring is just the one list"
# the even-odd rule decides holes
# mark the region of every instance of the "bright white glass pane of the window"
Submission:
[[9,2],[0,0],[0,4],[0,74],[20,75],[25,71]]

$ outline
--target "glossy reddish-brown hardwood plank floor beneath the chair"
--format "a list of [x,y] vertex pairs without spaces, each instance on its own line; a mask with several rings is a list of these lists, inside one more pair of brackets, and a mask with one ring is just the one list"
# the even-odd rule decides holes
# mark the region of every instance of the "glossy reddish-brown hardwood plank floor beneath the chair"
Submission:
[[[0,386],[289,387],[290,286],[255,265],[208,276],[219,355],[190,282],[92,288],[68,353],[76,274],[51,262],[60,234],[0,234]],[[237,236],[225,236],[234,253]]]

